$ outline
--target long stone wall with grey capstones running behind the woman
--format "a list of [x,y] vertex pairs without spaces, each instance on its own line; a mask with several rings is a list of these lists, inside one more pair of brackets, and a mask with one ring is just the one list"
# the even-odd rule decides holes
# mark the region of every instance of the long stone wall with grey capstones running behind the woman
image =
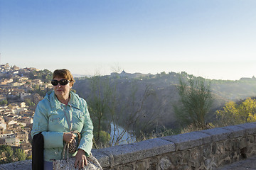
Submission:
[[[256,123],[214,128],[92,149],[104,169],[217,169],[256,154]],[[0,165],[31,169],[31,161]]]

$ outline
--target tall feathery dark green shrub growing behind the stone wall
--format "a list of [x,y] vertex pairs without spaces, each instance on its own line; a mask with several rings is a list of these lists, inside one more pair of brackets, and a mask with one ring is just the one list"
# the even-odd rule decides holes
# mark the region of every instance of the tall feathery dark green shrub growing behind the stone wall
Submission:
[[179,79],[177,86],[180,105],[174,106],[178,120],[184,125],[206,128],[206,116],[213,104],[210,84],[203,78],[189,77],[188,81]]

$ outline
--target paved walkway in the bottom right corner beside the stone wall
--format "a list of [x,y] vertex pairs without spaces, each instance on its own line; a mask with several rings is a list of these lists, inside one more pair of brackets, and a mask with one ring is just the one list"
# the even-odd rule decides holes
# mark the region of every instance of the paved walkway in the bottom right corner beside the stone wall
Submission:
[[256,157],[250,157],[233,164],[225,165],[217,170],[256,170]]

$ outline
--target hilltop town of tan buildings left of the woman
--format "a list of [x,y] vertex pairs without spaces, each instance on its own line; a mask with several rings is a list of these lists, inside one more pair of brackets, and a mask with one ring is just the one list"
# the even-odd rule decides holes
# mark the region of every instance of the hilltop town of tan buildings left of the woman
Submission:
[[21,148],[27,157],[32,154],[31,128],[36,105],[51,89],[51,75],[46,77],[43,72],[45,76],[39,79],[38,72],[43,71],[0,65],[0,145]]

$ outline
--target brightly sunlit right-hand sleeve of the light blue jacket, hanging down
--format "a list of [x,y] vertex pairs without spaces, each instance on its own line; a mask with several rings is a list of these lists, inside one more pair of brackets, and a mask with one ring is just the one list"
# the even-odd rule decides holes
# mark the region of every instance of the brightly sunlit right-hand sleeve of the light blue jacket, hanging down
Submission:
[[81,140],[78,149],[84,150],[86,152],[86,156],[88,157],[92,149],[93,125],[86,101],[82,98],[80,98],[80,100],[82,100],[82,104],[84,105],[83,110],[85,112],[85,121],[81,131]]

